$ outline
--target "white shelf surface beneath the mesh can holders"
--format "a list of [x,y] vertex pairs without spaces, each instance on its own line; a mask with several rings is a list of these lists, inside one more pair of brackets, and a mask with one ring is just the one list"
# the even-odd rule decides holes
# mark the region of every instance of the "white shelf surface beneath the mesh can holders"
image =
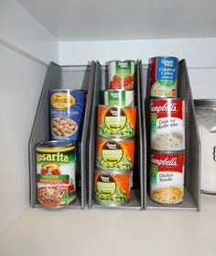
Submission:
[[200,212],[27,208],[0,237],[1,256],[214,256],[215,247],[216,195],[201,195]]

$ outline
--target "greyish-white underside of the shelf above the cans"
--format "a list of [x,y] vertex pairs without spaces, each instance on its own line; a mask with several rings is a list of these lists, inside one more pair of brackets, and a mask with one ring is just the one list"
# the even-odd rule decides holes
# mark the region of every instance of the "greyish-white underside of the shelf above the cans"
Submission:
[[215,0],[17,0],[59,41],[216,37]]

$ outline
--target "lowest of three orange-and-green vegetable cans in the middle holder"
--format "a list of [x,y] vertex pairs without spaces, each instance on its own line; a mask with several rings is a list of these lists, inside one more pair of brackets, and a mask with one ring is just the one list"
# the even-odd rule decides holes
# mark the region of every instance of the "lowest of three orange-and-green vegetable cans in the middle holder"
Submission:
[[130,201],[130,171],[94,171],[94,201],[103,206],[124,206]]

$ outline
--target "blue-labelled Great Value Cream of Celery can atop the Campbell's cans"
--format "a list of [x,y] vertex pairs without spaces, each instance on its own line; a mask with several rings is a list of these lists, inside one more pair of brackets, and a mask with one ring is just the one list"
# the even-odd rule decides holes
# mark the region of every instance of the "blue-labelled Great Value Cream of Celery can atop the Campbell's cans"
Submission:
[[161,56],[150,61],[150,96],[177,97],[178,59]]

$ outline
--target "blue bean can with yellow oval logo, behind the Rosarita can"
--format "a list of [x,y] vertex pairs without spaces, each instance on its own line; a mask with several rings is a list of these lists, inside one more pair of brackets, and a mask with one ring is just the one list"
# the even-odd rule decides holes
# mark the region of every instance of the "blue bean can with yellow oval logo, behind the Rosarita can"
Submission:
[[56,89],[49,91],[50,138],[61,141],[81,139],[86,92]]

